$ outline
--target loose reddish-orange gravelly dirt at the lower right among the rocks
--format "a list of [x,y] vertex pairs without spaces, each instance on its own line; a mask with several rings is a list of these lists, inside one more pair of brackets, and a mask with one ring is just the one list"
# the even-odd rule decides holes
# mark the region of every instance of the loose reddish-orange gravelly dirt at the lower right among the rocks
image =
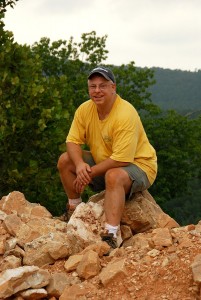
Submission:
[[[127,274],[115,278],[106,287],[98,275],[79,279],[91,288],[77,299],[200,300],[200,285],[193,280],[191,264],[201,253],[201,236],[190,229],[178,232],[169,247],[155,247],[150,252],[150,249],[129,246],[118,249],[115,257],[102,257],[102,267],[118,257],[126,258]],[[65,260],[57,261],[49,266],[49,271],[65,272],[64,263]],[[69,276],[76,276],[76,272]]]

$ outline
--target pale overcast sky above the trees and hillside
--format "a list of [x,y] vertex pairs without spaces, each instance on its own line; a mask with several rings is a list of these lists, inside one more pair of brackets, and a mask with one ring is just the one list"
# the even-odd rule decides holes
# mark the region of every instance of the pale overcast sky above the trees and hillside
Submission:
[[5,16],[20,44],[108,35],[108,64],[201,69],[201,0],[19,0]]

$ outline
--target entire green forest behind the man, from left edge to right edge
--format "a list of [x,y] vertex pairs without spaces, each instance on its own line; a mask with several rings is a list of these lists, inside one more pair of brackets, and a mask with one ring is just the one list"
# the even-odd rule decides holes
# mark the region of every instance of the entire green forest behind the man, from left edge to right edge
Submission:
[[[107,36],[92,31],[79,43],[73,37],[54,42],[43,37],[20,45],[4,28],[6,7],[15,2],[1,1],[0,12],[0,198],[18,190],[58,215],[67,199],[57,160],[75,109],[88,99],[87,75],[107,58]],[[158,176],[150,193],[180,224],[199,221],[201,117],[189,118],[189,112],[200,109],[200,71],[187,72],[187,84],[183,71],[142,69],[134,62],[109,67],[118,93],[139,111],[157,152]],[[91,194],[86,189],[83,199]]]

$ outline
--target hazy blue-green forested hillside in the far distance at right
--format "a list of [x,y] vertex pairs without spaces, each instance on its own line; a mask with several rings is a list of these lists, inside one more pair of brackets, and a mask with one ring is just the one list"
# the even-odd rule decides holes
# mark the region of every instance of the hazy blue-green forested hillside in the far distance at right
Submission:
[[152,68],[156,83],[149,88],[153,103],[182,114],[201,110],[201,70],[188,72]]

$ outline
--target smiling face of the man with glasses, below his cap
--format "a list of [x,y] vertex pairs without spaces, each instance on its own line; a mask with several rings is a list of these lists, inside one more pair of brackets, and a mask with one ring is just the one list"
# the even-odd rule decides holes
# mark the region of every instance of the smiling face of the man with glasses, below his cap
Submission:
[[88,80],[89,96],[96,105],[106,105],[113,101],[116,84],[103,76],[94,75]]

